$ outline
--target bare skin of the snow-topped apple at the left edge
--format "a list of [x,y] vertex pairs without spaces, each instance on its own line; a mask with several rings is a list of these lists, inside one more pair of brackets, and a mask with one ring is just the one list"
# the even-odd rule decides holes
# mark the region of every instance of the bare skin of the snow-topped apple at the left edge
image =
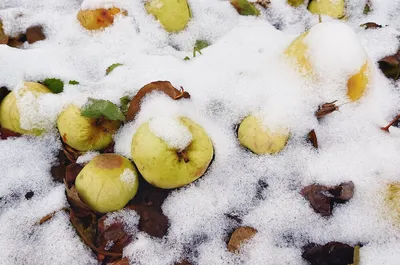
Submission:
[[[25,82],[24,87],[18,91],[19,96],[23,96],[25,93],[31,92],[36,98],[45,93],[51,93],[51,91],[39,83]],[[9,93],[1,102],[0,105],[0,124],[1,127],[20,134],[31,134],[41,135],[42,129],[34,128],[31,130],[25,130],[21,128],[20,124],[21,115],[17,105],[17,98],[15,92]]]

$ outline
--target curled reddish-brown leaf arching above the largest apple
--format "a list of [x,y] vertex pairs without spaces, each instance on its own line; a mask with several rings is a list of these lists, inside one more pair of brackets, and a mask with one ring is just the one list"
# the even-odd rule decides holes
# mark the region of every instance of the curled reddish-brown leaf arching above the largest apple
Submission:
[[152,82],[142,87],[131,100],[127,113],[127,121],[132,121],[135,119],[136,114],[140,111],[140,104],[142,99],[147,94],[153,91],[163,92],[174,100],[178,100],[181,98],[190,98],[190,94],[186,92],[182,87],[181,90],[178,90],[173,87],[172,84],[168,81]]

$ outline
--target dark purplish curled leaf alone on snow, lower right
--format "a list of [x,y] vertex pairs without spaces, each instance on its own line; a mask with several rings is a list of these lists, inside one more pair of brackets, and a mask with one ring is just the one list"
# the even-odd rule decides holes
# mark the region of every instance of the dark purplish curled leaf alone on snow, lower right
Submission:
[[334,203],[346,203],[354,195],[354,183],[352,181],[338,186],[310,185],[300,191],[316,213],[322,216],[332,215]]

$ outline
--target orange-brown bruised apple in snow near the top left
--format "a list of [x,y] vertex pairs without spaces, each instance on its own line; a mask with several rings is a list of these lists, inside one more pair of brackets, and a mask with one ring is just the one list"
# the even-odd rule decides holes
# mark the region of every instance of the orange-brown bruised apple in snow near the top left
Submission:
[[81,25],[88,30],[98,30],[106,28],[114,23],[114,17],[118,14],[125,14],[121,9],[113,8],[99,8],[79,10],[78,20]]

